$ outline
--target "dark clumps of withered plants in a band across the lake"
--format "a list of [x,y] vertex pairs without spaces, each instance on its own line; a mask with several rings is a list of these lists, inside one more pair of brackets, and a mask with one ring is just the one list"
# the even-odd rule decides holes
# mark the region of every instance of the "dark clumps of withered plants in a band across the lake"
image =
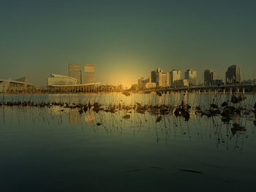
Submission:
[[[160,91],[156,92],[158,96],[162,96]],[[124,95],[130,96],[131,93],[129,91],[124,91]],[[183,94],[186,96],[186,94]],[[165,99],[165,98],[163,98]],[[238,103],[240,101],[244,101],[246,96],[243,94],[237,96],[231,96],[231,102],[227,99],[226,101],[222,102],[219,107],[218,101],[219,99],[217,96],[214,96],[213,103],[209,104],[210,106],[208,109],[204,106],[191,106],[187,104],[187,99],[184,97],[181,99],[181,104],[173,105],[173,104],[166,104],[166,102],[162,102],[162,104],[155,104],[153,105],[152,102],[148,102],[148,104],[141,104],[139,102],[133,101],[133,104],[124,104],[123,100],[118,100],[118,103],[110,101],[110,104],[105,105],[101,104],[99,100],[93,99],[86,101],[83,103],[82,101],[76,102],[56,102],[56,101],[1,101],[0,106],[7,106],[7,107],[39,107],[39,108],[50,108],[54,106],[59,106],[60,112],[64,112],[64,109],[70,110],[78,110],[79,114],[82,115],[84,112],[87,111],[94,111],[98,112],[110,112],[115,114],[116,112],[121,112],[124,110],[124,114],[121,117],[124,119],[129,119],[131,116],[127,113],[137,112],[140,114],[149,113],[151,115],[157,115],[156,122],[160,122],[162,120],[162,116],[165,115],[175,115],[177,118],[181,117],[184,118],[185,121],[188,121],[192,116],[199,115],[200,117],[206,116],[207,118],[214,118],[214,116],[221,116],[221,120],[223,123],[229,123],[230,120],[235,120],[236,117],[241,117],[242,115],[246,115],[251,117],[254,113],[256,119],[256,103],[254,104],[253,108],[244,107],[248,105],[243,105]],[[162,99],[161,99],[162,100]],[[250,105],[252,106],[252,105]],[[252,118],[250,118],[252,120]]]

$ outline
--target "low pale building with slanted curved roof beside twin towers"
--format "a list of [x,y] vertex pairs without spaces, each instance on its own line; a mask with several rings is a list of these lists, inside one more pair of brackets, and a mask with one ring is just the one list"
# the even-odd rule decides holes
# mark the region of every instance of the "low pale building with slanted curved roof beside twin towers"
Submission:
[[51,77],[47,78],[48,86],[72,86],[77,84],[77,79],[73,77],[67,77],[60,74],[50,74]]

